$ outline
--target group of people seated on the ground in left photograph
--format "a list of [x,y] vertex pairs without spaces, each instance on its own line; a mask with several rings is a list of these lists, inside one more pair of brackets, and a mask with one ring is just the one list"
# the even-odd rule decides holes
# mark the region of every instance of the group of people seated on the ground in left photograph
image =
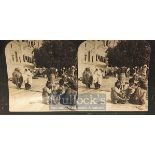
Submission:
[[42,101],[44,104],[75,105],[77,100],[77,82],[74,77],[64,77],[58,83],[47,81],[43,88]]

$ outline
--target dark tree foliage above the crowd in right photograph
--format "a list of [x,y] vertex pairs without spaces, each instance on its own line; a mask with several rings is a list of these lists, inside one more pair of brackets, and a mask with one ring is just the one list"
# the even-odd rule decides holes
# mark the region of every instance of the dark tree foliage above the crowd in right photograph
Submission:
[[110,66],[143,66],[149,64],[151,48],[147,41],[119,41],[117,46],[108,49]]

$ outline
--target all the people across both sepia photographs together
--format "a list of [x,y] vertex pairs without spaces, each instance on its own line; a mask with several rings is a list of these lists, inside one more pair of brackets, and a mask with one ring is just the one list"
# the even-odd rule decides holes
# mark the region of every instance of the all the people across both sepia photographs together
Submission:
[[[47,79],[45,87],[42,89],[42,101],[45,104],[75,105],[77,100],[78,82],[77,68],[56,69],[43,68],[42,74]],[[40,72],[40,73],[41,73]],[[18,89],[32,88],[32,79],[35,77],[36,70],[25,68],[22,72],[19,68],[15,68],[12,74],[12,82]],[[113,67],[105,72],[103,69],[95,69],[94,72],[90,68],[86,68],[83,72],[82,83],[87,88],[94,86],[99,89],[103,85],[103,78],[113,76],[117,78],[114,87],[111,88],[111,102],[116,103],[133,103],[145,104],[147,96],[147,79],[148,67]]]

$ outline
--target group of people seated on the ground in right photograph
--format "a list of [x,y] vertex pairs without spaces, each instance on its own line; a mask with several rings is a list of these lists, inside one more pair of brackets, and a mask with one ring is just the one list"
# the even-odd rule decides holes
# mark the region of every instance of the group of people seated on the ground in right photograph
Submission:
[[135,77],[129,79],[128,84],[123,82],[122,78],[118,78],[115,86],[111,88],[111,101],[114,104],[131,103],[144,105],[146,103],[147,84],[146,80]]

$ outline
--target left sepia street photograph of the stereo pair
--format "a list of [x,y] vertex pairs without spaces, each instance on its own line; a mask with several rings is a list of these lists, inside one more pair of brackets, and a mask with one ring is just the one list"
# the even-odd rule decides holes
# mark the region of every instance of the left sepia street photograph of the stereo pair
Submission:
[[11,112],[76,109],[81,41],[15,40],[6,46]]

